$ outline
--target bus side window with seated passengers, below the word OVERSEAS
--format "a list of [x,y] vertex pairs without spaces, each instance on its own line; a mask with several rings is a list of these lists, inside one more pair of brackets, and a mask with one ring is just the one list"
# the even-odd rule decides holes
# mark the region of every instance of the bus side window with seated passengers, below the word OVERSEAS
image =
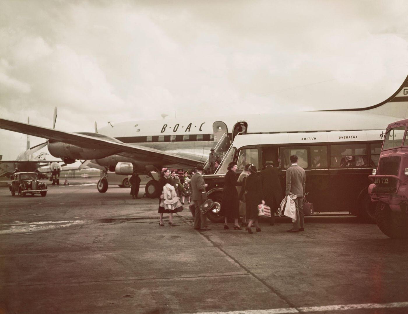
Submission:
[[366,144],[331,145],[331,167],[368,167]]

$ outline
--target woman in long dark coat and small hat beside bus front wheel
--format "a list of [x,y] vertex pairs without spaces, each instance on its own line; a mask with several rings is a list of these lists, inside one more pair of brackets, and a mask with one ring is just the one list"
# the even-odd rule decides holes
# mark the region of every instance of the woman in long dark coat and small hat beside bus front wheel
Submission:
[[242,182],[237,182],[235,170],[237,164],[232,162],[228,164],[228,172],[224,179],[224,195],[222,196],[222,204],[220,215],[224,216],[224,229],[229,229],[228,218],[234,218],[234,229],[242,229],[238,225],[239,218],[239,198],[236,187],[241,186]]

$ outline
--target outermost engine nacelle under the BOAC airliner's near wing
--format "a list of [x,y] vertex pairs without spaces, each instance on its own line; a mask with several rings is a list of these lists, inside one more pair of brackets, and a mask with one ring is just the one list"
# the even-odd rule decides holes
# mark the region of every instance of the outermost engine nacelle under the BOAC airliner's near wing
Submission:
[[64,159],[99,159],[118,153],[118,150],[113,148],[83,148],[54,140],[49,140],[47,146],[52,156]]

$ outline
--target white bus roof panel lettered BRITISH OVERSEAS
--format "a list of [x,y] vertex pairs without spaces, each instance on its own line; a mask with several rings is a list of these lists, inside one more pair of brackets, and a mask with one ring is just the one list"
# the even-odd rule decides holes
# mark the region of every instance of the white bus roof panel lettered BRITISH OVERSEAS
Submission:
[[246,134],[236,136],[232,146],[238,149],[249,145],[382,141],[384,131],[385,130]]

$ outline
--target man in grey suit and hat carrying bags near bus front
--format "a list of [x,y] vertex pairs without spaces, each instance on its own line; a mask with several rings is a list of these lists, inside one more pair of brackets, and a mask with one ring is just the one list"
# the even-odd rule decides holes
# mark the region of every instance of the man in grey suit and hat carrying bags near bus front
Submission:
[[206,231],[211,229],[207,226],[206,214],[203,214],[200,210],[200,206],[205,201],[205,188],[207,187],[207,184],[204,182],[204,178],[202,177],[203,170],[203,166],[198,164],[197,172],[191,178],[191,189],[193,190],[193,202],[195,207],[194,229]]

